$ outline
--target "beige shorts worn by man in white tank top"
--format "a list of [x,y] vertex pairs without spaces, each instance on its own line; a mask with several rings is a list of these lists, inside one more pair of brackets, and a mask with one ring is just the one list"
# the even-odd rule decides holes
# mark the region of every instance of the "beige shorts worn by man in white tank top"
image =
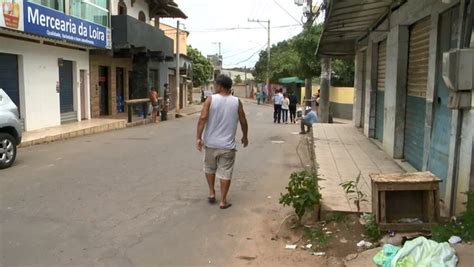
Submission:
[[232,179],[235,152],[235,149],[206,147],[204,151],[204,172],[207,174],[216,174],[219,179]]

